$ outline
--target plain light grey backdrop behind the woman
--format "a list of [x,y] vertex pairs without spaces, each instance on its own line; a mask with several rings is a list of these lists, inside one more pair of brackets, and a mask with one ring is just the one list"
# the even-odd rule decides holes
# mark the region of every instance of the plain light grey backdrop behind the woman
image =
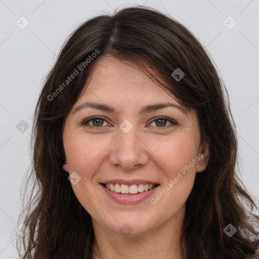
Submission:
[[0,258],[18,258],[14,230],[30,162],[32,114],[63,42],[86,19],[137,4],[176,18],[211,55],[230,95],[242,182],[258,202],[258,0],[0,0]]

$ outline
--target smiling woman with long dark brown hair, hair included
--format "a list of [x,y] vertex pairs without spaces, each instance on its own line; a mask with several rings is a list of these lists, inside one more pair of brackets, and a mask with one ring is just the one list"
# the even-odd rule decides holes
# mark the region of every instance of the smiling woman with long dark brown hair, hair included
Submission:
[[70,35],[38,99],[33,150],[24,259],[259,254],[224,84],[193,34],[153,9]]

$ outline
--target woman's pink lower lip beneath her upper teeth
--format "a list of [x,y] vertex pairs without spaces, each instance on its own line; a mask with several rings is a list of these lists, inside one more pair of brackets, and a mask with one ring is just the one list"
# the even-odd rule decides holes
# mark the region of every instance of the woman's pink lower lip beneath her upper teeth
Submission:
[[112,192],[110,190],[108,190],[107,188],[105,188],[102,184],[100,184],[101,187],[103,188],[103,190],[105,191],[105,193],[112,198],[113,200],[122,203],[122,204],[136,204],[139,203],[145,199],[147,199],[149,196],[151,196],[157,189],[158,186],[156,186],[155,188],[153,188],[150,191],[144,191],[141,193],[137,193],[137,194],[121,194],[121,193],[116,193],[116,192]]

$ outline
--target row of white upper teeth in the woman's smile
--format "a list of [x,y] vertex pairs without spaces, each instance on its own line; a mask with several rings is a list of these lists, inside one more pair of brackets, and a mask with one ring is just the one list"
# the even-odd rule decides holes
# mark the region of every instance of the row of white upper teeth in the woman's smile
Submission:
[[105,187],[112,192],[136,194],[151,190],[155,187],[154,184],[139,184],[139,185],[125,185],[125,184],[105,184]]

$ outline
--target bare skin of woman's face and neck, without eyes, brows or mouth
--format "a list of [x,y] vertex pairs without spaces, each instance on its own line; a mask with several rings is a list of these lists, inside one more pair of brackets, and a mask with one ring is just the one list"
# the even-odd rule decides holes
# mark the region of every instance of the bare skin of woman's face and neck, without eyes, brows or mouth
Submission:
[[[85,101],[112,106],[116,113],[93,108],[74,112]],[[206,142],[200,143],[197,113],[193,108],[187,111],[188,116],[174,107],[138,115],[143,106],[163,102],[179,104],[140,69],[107,56],[95,63],[65,120],[63,168],[69,174],[76,171],[81,177],[72,188],[92,217],[93,258],[182,258],[179,238],[185,204],[196,172],[206,168],[209,148]],[[92,116],[104,120],[88,123],[95,128],[82,124]],[[178,125],[168,120],[160,125],[157,116],[166,116]],[[125,119],[133,125],[128,133],[119,127]],[[199,153],[203,157],[152,204],[151,198],[168,188],[170,181]],[[144,201],[120,204],[108,197],[99,184],[111,179],[144,179],[160,186]],[[130,235],[121,233],[124,224],[130,226]]]

